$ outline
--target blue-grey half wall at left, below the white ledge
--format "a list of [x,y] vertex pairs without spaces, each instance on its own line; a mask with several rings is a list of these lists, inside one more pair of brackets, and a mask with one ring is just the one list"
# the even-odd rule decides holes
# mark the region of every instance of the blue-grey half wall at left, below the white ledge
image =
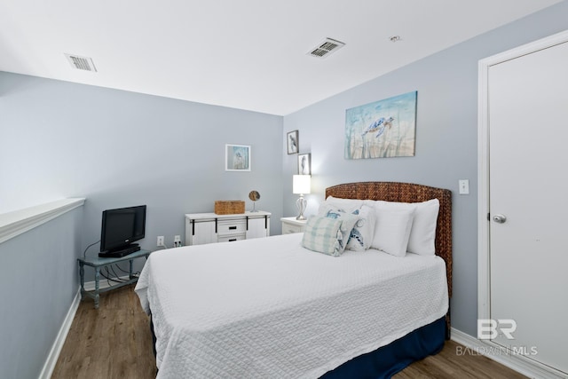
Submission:
[[77,294],[83,207],[0,243],[0,377],[35,379]]

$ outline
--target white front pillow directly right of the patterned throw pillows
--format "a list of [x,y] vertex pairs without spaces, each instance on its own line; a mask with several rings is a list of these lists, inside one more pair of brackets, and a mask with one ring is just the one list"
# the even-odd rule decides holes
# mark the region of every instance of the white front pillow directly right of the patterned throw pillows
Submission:
[[396,257],[406,256],[414,209],[379,209],[375,207],[375,235],[371,248]]

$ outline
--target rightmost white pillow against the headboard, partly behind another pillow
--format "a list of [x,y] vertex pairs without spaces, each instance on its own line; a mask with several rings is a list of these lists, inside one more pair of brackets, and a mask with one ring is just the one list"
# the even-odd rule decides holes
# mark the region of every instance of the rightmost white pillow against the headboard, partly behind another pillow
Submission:
[[422,202],[375,201],[375,209],[414,209],[414,219],[408,251],[422,256],[436,254],[436,225],[440,202],[432,199]]

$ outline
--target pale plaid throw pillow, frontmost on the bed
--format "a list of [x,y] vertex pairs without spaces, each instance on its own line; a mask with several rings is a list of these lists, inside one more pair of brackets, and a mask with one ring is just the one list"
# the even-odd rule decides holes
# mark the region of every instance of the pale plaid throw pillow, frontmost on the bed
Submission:
[[[339,257],[343,252],[341,219],[312,216],[304,228],[302,246],[328,256]],[[344,245],[344,244],[343,244]]]

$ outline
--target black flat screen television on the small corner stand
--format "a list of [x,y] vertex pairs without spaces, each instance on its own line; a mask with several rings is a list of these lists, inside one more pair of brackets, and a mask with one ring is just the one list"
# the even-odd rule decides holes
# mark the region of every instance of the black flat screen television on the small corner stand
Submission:
[[124,257],[138,251],[134,241],[146,233],[146,205],[106,209],[103,211],[100,228],[99,257]]

